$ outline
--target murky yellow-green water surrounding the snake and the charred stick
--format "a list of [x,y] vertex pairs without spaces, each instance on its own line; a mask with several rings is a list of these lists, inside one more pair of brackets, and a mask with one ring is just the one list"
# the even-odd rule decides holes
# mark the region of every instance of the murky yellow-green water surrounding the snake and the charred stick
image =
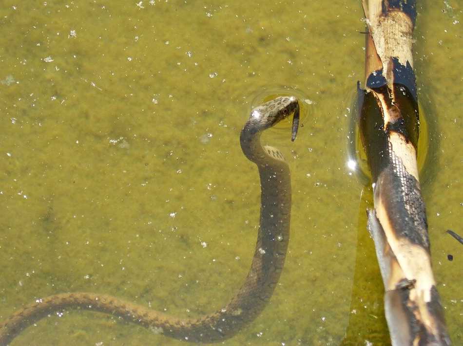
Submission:
[[[444,233],[463,234],[462,3],[420,3],[415,68],[434,131],[424,199],[463,345],[463,246]],[[183,317],[224,305],[258,225],[239,131],[256,95],[288,86],[313,101],[296,142],[289,129],[265,136],[292,171],[289,254],[269,306],[224,345],[388,345],[367,201],[346,167],[362,19],[347,0],[2,1],[0,320],[66,291]],[[72,311],[12,345],[184,344]]]

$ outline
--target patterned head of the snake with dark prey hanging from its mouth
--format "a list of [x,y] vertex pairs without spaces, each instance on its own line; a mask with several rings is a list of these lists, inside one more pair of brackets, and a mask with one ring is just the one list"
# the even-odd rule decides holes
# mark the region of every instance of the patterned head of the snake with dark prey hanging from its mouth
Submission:
[[291,127],[291,141],[296,139],[299,127],[299,103],[294,96],[279,96],[271,101],[252,109],[251,121],[260,130],[270,128],[294,113]]

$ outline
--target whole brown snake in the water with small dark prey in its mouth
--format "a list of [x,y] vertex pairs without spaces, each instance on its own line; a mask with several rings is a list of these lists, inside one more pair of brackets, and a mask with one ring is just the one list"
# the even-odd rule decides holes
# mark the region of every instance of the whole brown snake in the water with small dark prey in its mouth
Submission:
[[253,321],[270,300],[282,273],[289,244],[291,183],[283,154],[261,144],[261,134],[293,114],[291,140],[299,125],[299,103],[294,96],[279,96],[252,109],[240,133],[244,155],[259,170],[260,220],[249,273],[230,302],[197,318],[181,319],[118,297],[93,292],[66,292],[39,298],[0,323],[0,345],[6,346],[28,326],[65,310],[94,310],[149,328],[178,340],[213,343],[231,338]]

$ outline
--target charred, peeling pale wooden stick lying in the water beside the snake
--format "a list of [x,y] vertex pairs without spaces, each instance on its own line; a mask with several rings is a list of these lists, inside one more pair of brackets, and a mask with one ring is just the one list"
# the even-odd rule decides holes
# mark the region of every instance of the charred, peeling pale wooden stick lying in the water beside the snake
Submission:
[[360,133],[373,178],[368,229],[385,287],[392,345],[450,345],[431,268],[417,147],[414,0],[363,0],[368,35]]

